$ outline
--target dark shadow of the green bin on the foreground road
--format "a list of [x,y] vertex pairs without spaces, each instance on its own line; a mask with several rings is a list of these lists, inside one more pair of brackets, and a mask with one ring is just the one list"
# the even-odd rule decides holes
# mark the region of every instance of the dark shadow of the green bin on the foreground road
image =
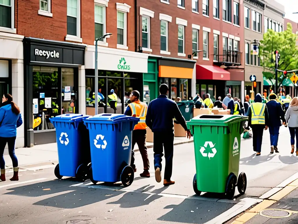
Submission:
[[172,210],[157,220],[175,223],[206,223],[233,206],[234,204],[231,203],[185,199],[179,205],[164,207]]

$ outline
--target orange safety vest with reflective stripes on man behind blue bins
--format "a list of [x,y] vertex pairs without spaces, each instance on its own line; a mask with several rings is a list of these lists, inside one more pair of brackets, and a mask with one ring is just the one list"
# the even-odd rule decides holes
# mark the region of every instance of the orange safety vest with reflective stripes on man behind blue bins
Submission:
[[147,109],[148,109],[147,104],[138,100],[138,101],[135,101],[135,102],[132,102],[132,103],[128,104],[128,106],[131,108],[131,116],[132,117],[138,117],[140,119],[138,124],[136,124],[134,126],[134,130],[136,130],[136,129],[147,129],[147,125],[145,123],[146,122]]

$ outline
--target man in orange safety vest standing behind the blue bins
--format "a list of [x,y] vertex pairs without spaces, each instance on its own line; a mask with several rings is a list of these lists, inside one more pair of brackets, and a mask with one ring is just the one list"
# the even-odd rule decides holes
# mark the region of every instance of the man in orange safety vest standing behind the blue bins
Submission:
[[147,114],[147,104],[139,100],[140,93],[137,90],[133,90],[129,96],[131,101],[125,111],[125,115],[140,118],[138,124],[134,126],[132,131],[132,143],[131,143],[131,167],[136,172],[136,165],[134,164],[134,145],[137,144],[139,147],[140,154],[143,160],[144,171],[140,174],[141,177],[150,177],[149,173],[149,159],[146,146],[146,132],[147,125],[145,123]]

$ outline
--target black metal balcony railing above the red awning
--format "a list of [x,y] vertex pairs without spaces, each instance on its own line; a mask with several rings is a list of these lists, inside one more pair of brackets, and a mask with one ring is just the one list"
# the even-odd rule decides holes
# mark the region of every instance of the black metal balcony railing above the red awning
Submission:
[[236,66],[241,65],[242,52],[238,50],[224,50],[224,54],[214,55],[215,64]]

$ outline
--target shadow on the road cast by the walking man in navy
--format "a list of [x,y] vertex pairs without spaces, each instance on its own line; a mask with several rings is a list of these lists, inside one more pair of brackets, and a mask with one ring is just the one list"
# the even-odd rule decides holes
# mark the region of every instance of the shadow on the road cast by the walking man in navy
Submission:
[[[146,185],[144,187],[137,189],[136,192],[127,192],[123,194],[123,196],[119,200],[114,202],[109,202],[107,204],[119,204],[120,208],[135,208],[143,205],[149,205],[154,200],[161,198],[162,196],[158,194],[162,193],[162,191],[168,188],[168,186],[162,187],[159,189],[155,189],[150,193],[148,192],[148,194],[139,194],[139,193],[150,191],[154,187],[155,186],[152,186],[152,185],[151,186]],[[137,194],[138,200],[135,200],[134,195],[136,194]]]

